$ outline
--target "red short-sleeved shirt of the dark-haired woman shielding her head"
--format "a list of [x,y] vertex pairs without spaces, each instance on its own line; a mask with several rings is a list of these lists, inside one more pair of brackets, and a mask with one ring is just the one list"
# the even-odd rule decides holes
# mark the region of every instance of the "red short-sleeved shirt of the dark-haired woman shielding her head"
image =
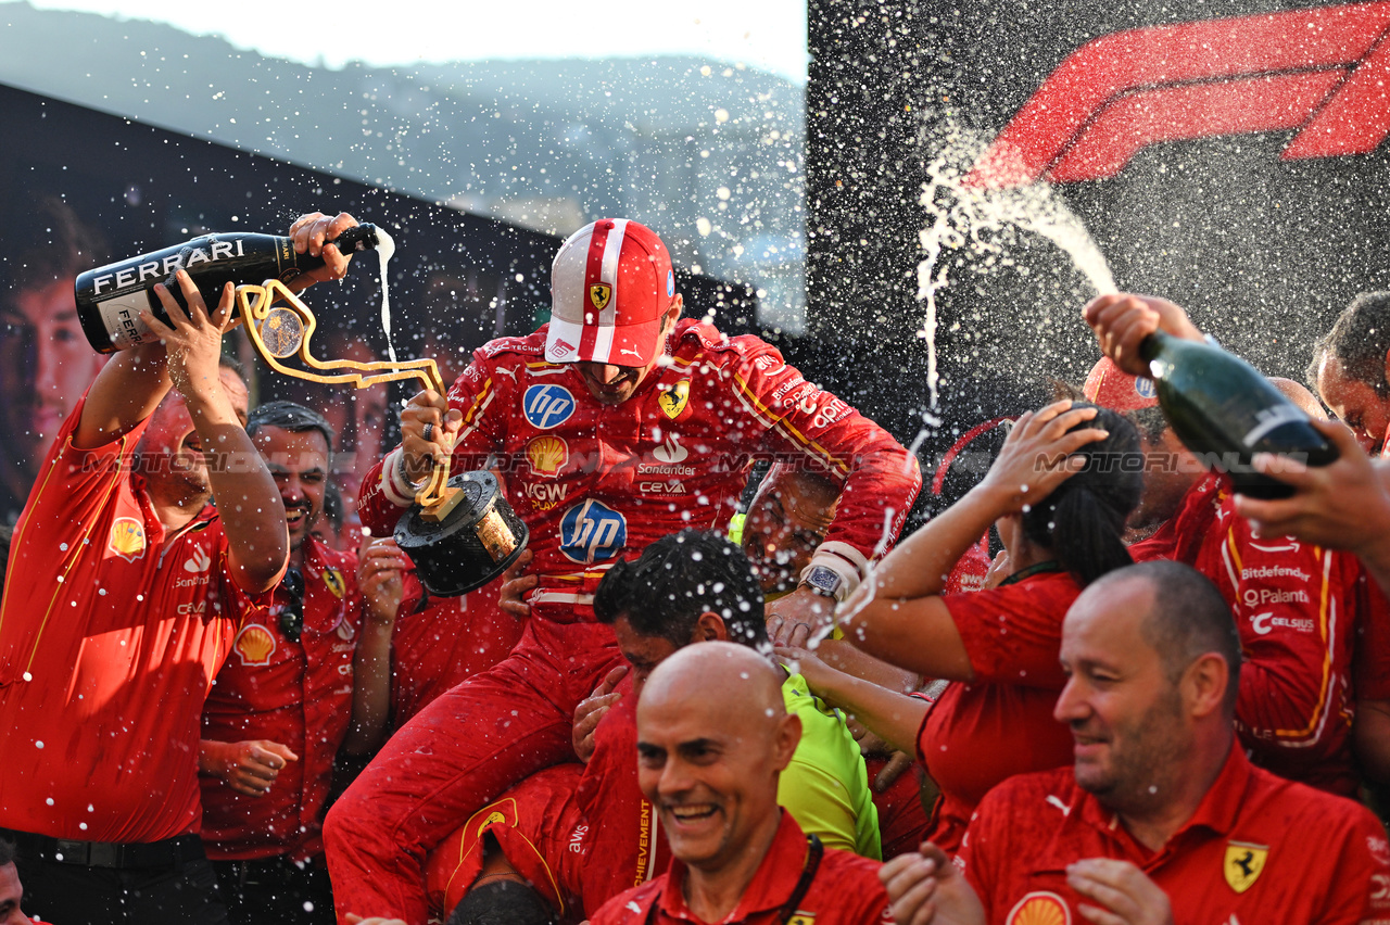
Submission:
[[1066,686],[1062,619],[1080,593],[1066,572],[1041,572],[942,599],[976,678],[952,682],[917,736],[917,758],[941,789],[926,838],[945,851],[994,785],[1072,762],[1072,733],[1052,707]]

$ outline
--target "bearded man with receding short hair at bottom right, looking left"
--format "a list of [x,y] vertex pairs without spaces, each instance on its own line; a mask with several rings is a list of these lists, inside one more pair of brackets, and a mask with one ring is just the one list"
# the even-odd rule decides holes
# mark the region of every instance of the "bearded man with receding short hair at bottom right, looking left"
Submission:
[[1062,665],[1074,765],[991,790],[955,865],[931,844],[884,865],[899,921],[1386,917],[1375,817],[1252,767],[1237,743],[1240,639],[1198,572],[1143,562],[1093,582],[1068,611]]

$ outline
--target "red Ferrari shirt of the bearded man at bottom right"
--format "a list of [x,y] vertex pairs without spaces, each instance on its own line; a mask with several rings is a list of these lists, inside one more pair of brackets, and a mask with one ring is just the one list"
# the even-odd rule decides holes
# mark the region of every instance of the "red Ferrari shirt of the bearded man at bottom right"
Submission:
[[1061,925],[1086,921],[1066,865],[1093,857],[1133,861],[1168,893],[1175,922],[1390,921],[1390,844],[1380,822],[1351,800],[1255,768],[1238,746],[1193,818],[1156,853],[1062,768],[995,788],[956,864],[991,925]]

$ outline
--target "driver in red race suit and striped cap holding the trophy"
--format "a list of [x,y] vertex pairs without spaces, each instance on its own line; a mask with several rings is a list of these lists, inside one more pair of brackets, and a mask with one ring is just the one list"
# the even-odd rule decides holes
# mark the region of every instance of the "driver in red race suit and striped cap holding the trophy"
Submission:
[[[350,215],[291,229],[316,253]],[[759,338],[681,319],[670,254],[649,228],[602,219],[552,269],[552,321],[474,353],[449,396],[423,392],[402,444],[363,481],[359,511],[392,529],[436,457],[502,468],[539,578],[513,654],[443,694],[382,749],[329,811],[339,915],[425,918],[425,853],[488,799],[573,756],[571,715],[621,656],[592,594],[620,551],[687,526],[723,529],[753,458],[842,486],[801,586],[770,615],[815,622],[891,546],[922,485],[885,431],[808,382]],[[346,921],[346,919],[345,919]]]

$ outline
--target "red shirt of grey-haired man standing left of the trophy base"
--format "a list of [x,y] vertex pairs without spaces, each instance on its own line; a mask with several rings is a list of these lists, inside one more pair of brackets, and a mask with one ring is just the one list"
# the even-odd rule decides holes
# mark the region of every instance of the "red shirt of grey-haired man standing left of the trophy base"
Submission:
[[268,608],[243,614],[232,653],[203,707],[203,738],[267,739],[299,756],[261,796],[204,775],[203,846],[214,861],[289,856],[322,847],[334,757],[352,721],[353,654],[361,625],[357,557],[304,542],[304,622],[299,642],[279,629],[284,586]]

